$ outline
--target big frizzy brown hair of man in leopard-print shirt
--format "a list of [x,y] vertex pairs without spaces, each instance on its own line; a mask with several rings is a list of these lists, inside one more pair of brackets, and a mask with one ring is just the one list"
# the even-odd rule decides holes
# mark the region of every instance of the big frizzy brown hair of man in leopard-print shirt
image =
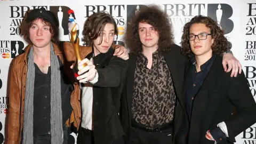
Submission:
[[153,26],[159,35],[158,49],[162,52],[171,50],[174,43],[172,24],[161,8],[157,5],[141,7],[137,14],[132,16],[131,22],[127,25],[124,41],[130,52],[138,54],[142,52],[142,43],[139,37],[139,22],[146,22]]

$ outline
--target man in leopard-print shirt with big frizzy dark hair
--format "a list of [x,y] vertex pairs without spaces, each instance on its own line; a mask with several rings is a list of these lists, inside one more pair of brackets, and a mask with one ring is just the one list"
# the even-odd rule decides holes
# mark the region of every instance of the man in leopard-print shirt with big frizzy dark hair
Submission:
[[[132,144],[185,141],[180,135],[186,58],[172,31],[169,18],[156,5],[141,7],[127,26],[125,42],[131,53],[121,118],[126,141]],[[228,53],[223,62],[230,63],[228,59],[235,58]]]

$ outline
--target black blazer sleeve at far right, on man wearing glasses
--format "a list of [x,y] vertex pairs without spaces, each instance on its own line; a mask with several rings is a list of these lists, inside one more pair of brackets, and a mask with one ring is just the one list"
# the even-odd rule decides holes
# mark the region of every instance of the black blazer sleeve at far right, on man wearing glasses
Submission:
[[227,125],[228,141],[235,142],[236,135],[256,122],[256,103],[244,72],[237,77],[230,77],[228,95],[237,110],[237,114],[224,122]]

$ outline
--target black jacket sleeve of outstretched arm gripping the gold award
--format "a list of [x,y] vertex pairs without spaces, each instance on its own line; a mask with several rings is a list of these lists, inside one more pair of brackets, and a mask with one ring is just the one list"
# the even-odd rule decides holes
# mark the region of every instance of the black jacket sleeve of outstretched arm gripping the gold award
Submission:
[[105,68],[96,68],[99,77],[98,82],[93,85],[101,87],[118,86],[121,81],[121,74],[126,72],[127,67],[127,60],[113,56]]

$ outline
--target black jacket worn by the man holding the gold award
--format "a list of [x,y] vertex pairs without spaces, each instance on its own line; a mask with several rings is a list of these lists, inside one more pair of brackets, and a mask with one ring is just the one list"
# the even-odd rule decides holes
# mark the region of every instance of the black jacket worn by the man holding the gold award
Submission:
[[93,59],[99,74],[93,84],[93,134],[95,144],[108,144],[124,135],[118,113],[128,61],[114,57],[111,48],[100,54]]

